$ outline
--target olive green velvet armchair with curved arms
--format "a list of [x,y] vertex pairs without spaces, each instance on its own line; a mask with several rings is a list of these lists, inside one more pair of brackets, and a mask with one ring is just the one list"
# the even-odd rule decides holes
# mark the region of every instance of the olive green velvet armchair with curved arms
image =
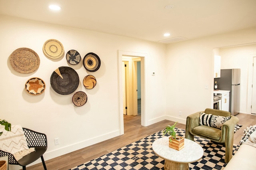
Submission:
[[[223,117],[230,116],[230,119],[222,125],[221,129],[219,129],[216,127],[200,125],[200,113],[219,115]],[[235,116],[232,116],[230,112],[220,111],[216,109],[205,109],[205,111],[200,111],[187,117],[185,138],[194,141],[194,135],[196,135],[210,139],[211,141],[217,143],[224,143],[226,147],[225,162],[228,163],[229,160],[232,158],[234,127],[236,123],[238,123],[238,121],[239,119]]]

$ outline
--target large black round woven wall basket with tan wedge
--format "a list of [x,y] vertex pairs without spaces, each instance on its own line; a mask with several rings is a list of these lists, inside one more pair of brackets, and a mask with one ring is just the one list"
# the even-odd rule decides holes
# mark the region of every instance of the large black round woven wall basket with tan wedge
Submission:
[[73,93],[79,85],[78,73],[71,67],[59,67],[50,78],[52,89],[61,95]]

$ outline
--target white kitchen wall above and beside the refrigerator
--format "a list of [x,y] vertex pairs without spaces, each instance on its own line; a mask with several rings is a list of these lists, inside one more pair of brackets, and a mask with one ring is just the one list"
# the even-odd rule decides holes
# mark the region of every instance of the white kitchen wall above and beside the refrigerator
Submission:
[[219,54],[221,69],[241,69],[240,113],[251,113],[252,63],[256,57],[256,43],[219,48]]

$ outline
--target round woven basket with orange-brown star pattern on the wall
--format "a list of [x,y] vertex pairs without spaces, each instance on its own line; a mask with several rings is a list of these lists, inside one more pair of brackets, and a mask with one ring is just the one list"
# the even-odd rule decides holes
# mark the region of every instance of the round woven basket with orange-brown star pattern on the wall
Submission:
[[33,77],[26,81],[25,89],[30,95],[40,95],[45,90],[45,83],[42,79]]

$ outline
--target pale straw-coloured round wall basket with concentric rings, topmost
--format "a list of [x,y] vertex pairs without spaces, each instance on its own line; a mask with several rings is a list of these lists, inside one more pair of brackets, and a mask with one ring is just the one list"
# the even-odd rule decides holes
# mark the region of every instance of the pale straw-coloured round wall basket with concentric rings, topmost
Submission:
[[57,59],[63,55],[64,47],[58,40],[50,39],[44,43],[43,51],[47,57]]

